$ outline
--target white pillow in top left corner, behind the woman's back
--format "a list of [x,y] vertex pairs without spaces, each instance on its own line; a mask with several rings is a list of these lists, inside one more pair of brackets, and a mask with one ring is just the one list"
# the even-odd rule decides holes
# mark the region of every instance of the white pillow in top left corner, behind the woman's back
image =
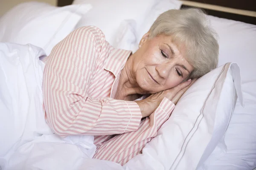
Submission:
[[55,7],[47,3],[22,3],[0,18],[0,42],[30,43],[49,55],[90,8],[89,4]]

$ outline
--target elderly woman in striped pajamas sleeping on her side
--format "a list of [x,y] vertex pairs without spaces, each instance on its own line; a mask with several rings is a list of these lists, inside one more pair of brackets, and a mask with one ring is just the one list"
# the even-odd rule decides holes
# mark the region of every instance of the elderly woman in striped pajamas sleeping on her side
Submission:
[[44,62],[44,110],[52,130],[62,137],[94,135],[94,158],[125,164],[157,135],[194,79],[216,67],[218,43],[202,11],[169,10],[134,54],[86,26]]

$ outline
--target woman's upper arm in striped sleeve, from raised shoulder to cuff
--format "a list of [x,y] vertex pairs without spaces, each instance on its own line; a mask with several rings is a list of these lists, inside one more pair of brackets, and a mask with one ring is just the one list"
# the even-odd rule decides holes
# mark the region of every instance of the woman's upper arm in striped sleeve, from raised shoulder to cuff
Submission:
[[88,95],[109,44],[99,28],[81,27],[59,42],[44,69],[47,122],[59,136],[108,135],[135,131],[142,118],[136,102]]

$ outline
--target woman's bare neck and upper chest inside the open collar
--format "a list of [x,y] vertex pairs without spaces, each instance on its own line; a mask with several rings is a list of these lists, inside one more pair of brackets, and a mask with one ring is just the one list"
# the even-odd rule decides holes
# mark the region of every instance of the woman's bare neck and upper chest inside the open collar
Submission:
[[133,61],[134,55],[131,55],[121,71],[117,88],[118,93],[116,93],[117,95],[115,98],[130,98],[129,100],[134,100],[142,94],[146,94],[146,92],[137,84],[135,71],[133,70]]

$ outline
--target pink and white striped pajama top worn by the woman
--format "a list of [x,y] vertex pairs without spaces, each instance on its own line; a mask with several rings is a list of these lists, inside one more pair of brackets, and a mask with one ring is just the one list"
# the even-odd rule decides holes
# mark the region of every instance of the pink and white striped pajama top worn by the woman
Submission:
[[[99,28],[71,32],[44,59],[44,112],[59,136],[94,135],[93,158],[125,164],[157,136],[175,105],[164,98],[141,119],[134,101],[115,99],[119,76],[131,51],[115,49]],[[117,135],[118,134],[118,135]]]

